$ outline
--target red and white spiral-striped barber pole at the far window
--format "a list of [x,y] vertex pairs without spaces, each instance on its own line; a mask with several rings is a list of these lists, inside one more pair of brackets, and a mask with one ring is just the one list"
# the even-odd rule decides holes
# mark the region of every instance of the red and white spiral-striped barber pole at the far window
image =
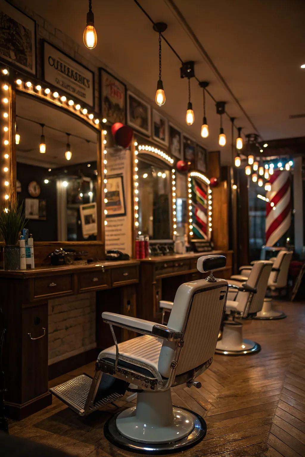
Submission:
[[290,172],[276,170],[268,182],[271,191],[266,194],[269,199],[266,203],[266,246],[274,246],[291,223]]

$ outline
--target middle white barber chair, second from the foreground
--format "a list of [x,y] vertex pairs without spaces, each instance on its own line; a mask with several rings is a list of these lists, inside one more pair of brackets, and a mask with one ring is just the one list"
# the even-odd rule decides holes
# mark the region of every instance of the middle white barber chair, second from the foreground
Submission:
[[252,319],[261,309],[268,278],[273,263],[259,260],[253,265],[246,282],[229,280],[229,293],[225,306],[225,318],[221,339],[216,345],[216,354],[243,355],[261,350],[261,346],[242,337],[242,324],[235,319]]

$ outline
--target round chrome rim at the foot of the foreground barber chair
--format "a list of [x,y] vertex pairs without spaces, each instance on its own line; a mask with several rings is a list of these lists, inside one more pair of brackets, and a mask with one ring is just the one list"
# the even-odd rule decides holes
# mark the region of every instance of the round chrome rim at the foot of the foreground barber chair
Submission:
[[115,446],[118,446],[126,451],[132,452],[139,452],[141,454],[170,454],[172,452],[180,452],[185,449],[188,449],[195,444],[199,443],[203,440],[204,436],[207,432],[207,426],[205,421],[199,414],[194,413],[193,411],[181,408],[177,406],[173,406],[174,412],[177,410],[184,410],[187,411],[189,415],[191,415],[194,421],[194,428],[191,432],[182,438],[181,440],[169,442],[169,443],[154,443],[154,444],[147,444],[147,443],[140,443],[138,441],[129,440],[125,436],[121,435],[116,426],[116,420],[119,414],[113,415],[109,418],[104,425],[104,435],[108,441],[110,441]]

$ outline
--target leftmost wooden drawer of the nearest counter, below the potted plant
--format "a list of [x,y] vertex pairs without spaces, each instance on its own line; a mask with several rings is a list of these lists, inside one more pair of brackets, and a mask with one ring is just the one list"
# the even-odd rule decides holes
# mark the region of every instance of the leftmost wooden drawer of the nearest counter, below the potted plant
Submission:
[[35,278],[34,298],[53,297],[73,292],[72,275],[57,275]]

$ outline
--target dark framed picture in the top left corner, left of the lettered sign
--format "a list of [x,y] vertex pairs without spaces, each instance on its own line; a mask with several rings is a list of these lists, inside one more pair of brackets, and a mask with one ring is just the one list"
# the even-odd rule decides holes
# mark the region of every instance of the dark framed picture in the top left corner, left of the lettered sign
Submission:
[[0,58],[36,74],[36,21],[0,0]]

